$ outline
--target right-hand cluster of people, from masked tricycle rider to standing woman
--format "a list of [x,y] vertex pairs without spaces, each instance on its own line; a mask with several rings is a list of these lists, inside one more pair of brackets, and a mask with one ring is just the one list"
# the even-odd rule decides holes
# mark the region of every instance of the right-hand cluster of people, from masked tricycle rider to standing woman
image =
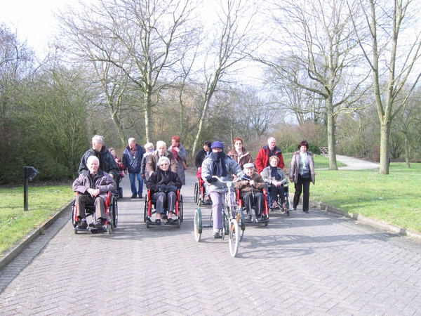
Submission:
[[[314,159],[312,152],[307,151],[309,144],[303,140],[298,144],[298,151],[294,152],[290,164],[289,180],[295,184],[293,209],[297,209],[300,196],[303,194],[302,210],[309,212],[309,184],[314,183]],[[246,220],[251,220],[252,209],[255,209],[255,218],[262,220],[265,199],[262,190],[269,185],[269,194],[272,197],[273,209],[286,209],[284,185],[288,178],[283,172],[282,150],[276,146],[276,139],[270,137],[267,145],[258,152],[255,161],[251,154],[243,147],[241,138],[234,138],[234,148],[225,154],[224,145],[220,141],[212,144],[206,141],[203,150],[196,155],[198,178],[206,181],[206,199],[211,200],[213,214],[213,236],[222,237],[222,194],[227,188],[213,176],[224,181],[239,178],[235,187],[240,189],[241,199],[247,211]],[[281,197],[281,205],[278,205]],[[206,200],[205,200],[206,202]]]

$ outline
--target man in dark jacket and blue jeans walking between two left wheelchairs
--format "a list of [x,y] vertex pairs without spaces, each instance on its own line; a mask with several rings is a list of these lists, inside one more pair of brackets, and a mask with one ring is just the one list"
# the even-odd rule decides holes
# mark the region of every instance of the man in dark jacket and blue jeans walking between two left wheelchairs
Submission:
[[[143,178],[140,172],[143,154],[145,154],[145,149],[136,143],[135,138],[128,138],[128,146],[123,152],[123,165],[126,169],[124,172],[128,173],[130,179],[132,199],[137,195],[139,195],[139,199],[143,198]],[[138,179],[138,190],[136,190],[136,178]]]

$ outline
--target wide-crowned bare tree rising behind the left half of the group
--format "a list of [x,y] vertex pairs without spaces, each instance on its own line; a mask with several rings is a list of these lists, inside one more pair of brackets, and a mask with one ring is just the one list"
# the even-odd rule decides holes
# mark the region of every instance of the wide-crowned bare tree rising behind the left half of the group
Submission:
[[[147,141],[152,141],[153,107],[159,93],[177,77],[173,66],[188,47],[190,3],[189,0],[99,0],[98,4],[81,2],[79,11],[69,8],[60,16],[65,34],[81,58],[102,63],[100,69],[108,67],[107,64],[118,68],[139,89]],[[114,85],[124,82],[107,79],[114,80]],[[117,99],[123,90],[120,86]]]

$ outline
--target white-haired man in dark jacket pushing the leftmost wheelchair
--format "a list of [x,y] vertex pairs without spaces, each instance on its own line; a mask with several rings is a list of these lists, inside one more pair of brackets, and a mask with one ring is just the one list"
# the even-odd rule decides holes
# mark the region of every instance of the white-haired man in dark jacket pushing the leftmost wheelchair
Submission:
[[116,179],[116,177],[119,176],[119,166],[117,166],[116,160],[112,156],[112,153],[109,152],[107,147],[105,147],[105,139],[103,136],[93,136],[92,148],[86,150],[81,159],[81,163],[79,164],[79,174],[81,174],[83,171],[88,171],[87,162],[88,158],[91,156],[98,158],[100,162],[100,169],[109,173],[113,179]]

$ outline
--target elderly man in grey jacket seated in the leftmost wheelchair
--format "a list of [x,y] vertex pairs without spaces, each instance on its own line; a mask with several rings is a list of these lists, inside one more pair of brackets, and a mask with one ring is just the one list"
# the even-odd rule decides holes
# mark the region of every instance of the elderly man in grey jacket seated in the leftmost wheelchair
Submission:
[[86,230],[86,206],[95,206],[95,228],[102,228],[107,220],[107,212],[105,210],[105,199],[108,192],[116,190],[116,183],[113,178],[99,169],[100,161],[97,157],[88,157],[86,166],[87,171],[82,171],[79,177],[74,180],[72,185],[74,192],[77,192],[75,206],[76,216],[79,223],[76,225],[77,230]]

